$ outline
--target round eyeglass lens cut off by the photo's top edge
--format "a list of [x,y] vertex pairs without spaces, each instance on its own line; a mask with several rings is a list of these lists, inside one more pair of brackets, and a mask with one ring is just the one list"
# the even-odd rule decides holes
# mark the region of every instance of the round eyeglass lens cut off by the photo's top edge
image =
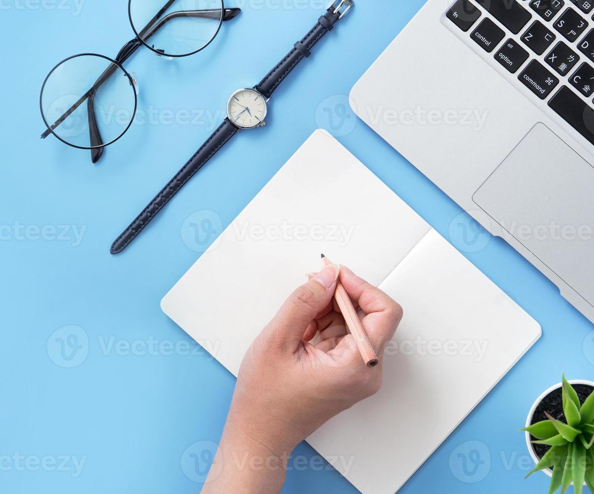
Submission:
[[138,39],[154,52],[192,55],[219,32],[223,0],[129,0],[128,14]]

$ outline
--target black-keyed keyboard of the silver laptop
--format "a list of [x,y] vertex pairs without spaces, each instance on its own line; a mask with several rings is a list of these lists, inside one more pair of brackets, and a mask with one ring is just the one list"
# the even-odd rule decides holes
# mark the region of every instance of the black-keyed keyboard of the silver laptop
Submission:
[[457,0],[445,17],[594,144],[593,9],[594,0]]

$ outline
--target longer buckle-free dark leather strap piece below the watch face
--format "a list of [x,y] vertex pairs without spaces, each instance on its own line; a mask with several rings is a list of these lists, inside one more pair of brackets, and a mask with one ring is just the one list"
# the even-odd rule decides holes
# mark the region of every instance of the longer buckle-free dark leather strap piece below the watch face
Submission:
[[239,128],[233,125],[228,118],[223,121],[219,128],[214,131],[206,143],[204,143],[188,163],[184,164],[181,170],[163,187],[146,208],[140,213],[134,221],[122,232],[111,246],[111,253],[118,254],[122,252],[132,240],[136,238],[150,220],[152,220],[163,206],[178,193],[179,189],[195,175],[201,167],[216,153],[223,145],[229,141],[233,135],[239,132]]

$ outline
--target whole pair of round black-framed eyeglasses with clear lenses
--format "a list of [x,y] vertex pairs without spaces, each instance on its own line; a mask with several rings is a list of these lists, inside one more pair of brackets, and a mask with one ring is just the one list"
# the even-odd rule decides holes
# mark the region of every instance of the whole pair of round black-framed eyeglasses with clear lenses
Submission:
[[69,56],[43,81],[39,106],[47,129],[41,138],[53,134],[62,143],[91,150],[96,163],[136,115],[137,80],[122,66],[132,53],[144,45],[165,58],[194,55],[210,45],[223,21],[240,11],[225,8],[223,0],[169,0],[165,5],[163,0],[129,0],[136,37],[115,59],[97,53]]

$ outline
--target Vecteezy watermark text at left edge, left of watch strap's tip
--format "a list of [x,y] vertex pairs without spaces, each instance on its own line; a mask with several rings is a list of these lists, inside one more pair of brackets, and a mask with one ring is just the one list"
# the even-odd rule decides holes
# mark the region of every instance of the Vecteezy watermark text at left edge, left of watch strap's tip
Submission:
[[78,247],[83,242],[87,226],[75,224],[22,224],[15,221],[12,224],[0,224],[0,242],[16,240],[17,242],[70,242],[72,247]]

